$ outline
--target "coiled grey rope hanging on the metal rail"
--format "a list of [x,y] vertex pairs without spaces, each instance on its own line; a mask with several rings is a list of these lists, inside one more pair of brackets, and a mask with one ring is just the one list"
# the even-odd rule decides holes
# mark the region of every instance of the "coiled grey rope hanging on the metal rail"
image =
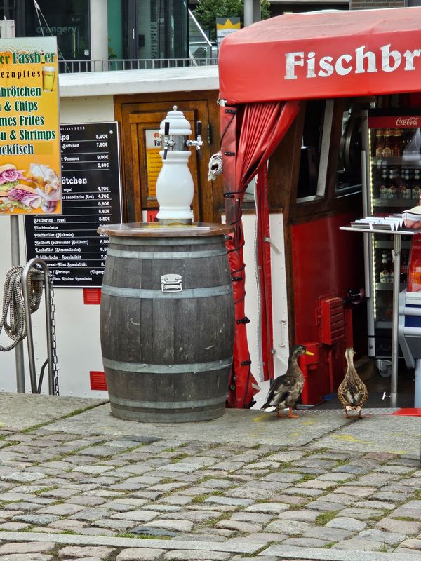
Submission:
[[[29,271],[29,309],[34,313],[41,304],[42,281],[33,280],[32,276],[39,273],[35,267]],[[3,309],[0,318],[0,333],[4,332],[12,339],[13,343],[8,346],[0,345],[0,351],[10,351],[18,342],[27,336],[27,325],[25,322],[25,302],[22,295],[23,267],[15,266],[6,274],[3,291]],[[9,316],[9,320],[8,320]]]

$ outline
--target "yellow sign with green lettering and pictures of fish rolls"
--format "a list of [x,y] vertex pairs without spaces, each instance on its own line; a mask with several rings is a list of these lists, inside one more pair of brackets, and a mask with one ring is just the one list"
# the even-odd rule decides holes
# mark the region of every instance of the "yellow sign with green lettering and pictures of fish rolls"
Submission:
[[55,37],[0,39],[0,216],[61,214]]

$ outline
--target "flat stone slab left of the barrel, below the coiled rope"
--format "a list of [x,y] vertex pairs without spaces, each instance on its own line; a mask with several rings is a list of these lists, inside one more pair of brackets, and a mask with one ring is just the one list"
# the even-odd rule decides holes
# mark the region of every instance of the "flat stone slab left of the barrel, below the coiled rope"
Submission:
[[22,431],[102,403],[105,400],[1,392],[0,430]]

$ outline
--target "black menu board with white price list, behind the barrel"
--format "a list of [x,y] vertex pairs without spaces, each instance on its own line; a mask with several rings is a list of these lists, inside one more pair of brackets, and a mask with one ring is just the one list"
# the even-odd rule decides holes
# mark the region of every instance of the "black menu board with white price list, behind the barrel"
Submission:
[[26,216],[27,259],[44,259],[53,286],[100,287],[108,236],[98,226],[121,222],[117,123],[63,125],[62,215]]

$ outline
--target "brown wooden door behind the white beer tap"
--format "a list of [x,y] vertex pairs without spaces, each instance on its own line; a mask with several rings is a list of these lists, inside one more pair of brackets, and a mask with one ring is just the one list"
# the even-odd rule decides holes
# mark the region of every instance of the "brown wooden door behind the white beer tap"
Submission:
[[[158,132],[160,123],[166,118],[168,111],[173,110],[174,105],[177,105],[178,110],[185,114],[185,118],[190,123],[191,140],[195,138],[197,121],[202,123],[201,158],[194,148],[190,149],[189,157],[189,170],[194,182],[192,201],[194,221],[218,220],[219,222],[218,209],[223,208],[222,181],[208,181],[208,162],[210,156],[219,148],[211,134],[211,130],[215,130],[218,107],[215,104],[215,109],[210,111],[207,99],[173,99],[172,102],[157,100],[121,104],[123,208],[127,222],[141,222],[142,210],[159,208],[155,193],[156,177],[162,165],[159,156],[161,137]],[[117,115],[119,112],[117,111]],[[213,115],[210,115],[212,113]],[[213,119],[212,128],[211,119]],[[216,140],[218,138],[219,134]]]

